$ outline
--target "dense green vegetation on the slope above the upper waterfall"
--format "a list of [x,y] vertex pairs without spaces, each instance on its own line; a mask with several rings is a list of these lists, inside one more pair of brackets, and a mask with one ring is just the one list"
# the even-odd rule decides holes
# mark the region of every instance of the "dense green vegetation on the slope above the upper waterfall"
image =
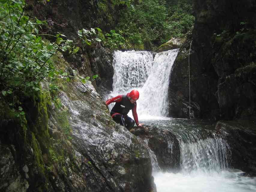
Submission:
[[[113,19],[107,3],[98,1],[99,10]],[[115,29],[105,34],[111,48],[152,49],[186,34],[194,24],[191,0],[112,0],[111,6],[119,12]]]

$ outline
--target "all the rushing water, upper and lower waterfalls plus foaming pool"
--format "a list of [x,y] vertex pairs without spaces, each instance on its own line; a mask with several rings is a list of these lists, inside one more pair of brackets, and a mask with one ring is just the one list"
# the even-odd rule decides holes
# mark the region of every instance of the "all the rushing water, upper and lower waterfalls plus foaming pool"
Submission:
[[[169,77],[178,49],[155,55],[145,51],[114,53],[113,92],[109,97],[138,89],[140,123],[169,129],[180,147],[180,170],[162,173],[151,149],[149,155],[158,192],[249,192],[256,191],[256,179],[230,169],[231,151],[210,122],[166,117]],[[128,114],[132,117],[131,113]],[[143,120],[143,121],[141,121]],[[147,144],[147,140],[145,140]],[[172,153],[173,141],[168,141]]]

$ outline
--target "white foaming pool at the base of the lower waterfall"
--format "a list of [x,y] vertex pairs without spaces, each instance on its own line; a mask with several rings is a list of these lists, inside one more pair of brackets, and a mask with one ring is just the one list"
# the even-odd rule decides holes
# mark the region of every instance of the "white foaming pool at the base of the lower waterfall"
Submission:
[[256,179],[241,176],[242,172],[196,171],[193,174],[155,173],[158,192],[252,192],[256,191]]

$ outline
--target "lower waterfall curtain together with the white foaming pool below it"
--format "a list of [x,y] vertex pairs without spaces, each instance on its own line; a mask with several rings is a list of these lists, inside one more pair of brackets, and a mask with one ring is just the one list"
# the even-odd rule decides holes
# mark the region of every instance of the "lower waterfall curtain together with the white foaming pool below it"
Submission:
[[158,192],[252,192],[256,179],[229,169],[229,146],[217,134],[202,138],[193,131],[176,133],[180,146],[180,172],[155,172]]

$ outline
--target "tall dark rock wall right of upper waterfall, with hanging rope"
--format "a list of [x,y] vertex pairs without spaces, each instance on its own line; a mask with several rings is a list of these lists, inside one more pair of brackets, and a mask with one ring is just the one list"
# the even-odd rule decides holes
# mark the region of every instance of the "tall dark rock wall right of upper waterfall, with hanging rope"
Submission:
[[[236,7],[241,7],[239,11]],[[255,1],[195,1],[192,35],[170,77],[170,116],[233,119],[255,114]]]

